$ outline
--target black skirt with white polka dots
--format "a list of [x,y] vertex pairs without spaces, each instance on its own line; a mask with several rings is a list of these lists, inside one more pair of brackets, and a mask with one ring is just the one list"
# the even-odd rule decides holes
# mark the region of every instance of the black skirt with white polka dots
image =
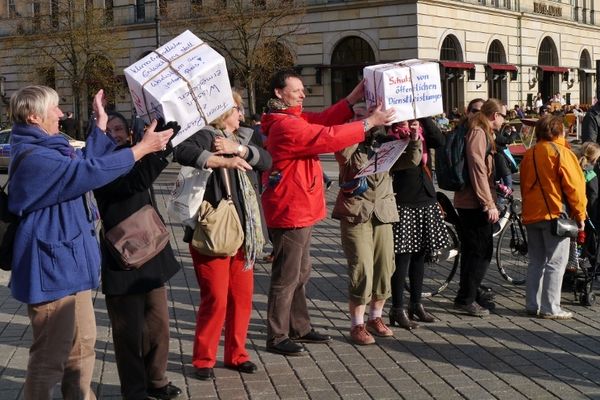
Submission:
[[398,206],[400,222],[393,224],[394,253],[416,253],[450,246],[448,230],[440,206],[435,203],[424,207]]

